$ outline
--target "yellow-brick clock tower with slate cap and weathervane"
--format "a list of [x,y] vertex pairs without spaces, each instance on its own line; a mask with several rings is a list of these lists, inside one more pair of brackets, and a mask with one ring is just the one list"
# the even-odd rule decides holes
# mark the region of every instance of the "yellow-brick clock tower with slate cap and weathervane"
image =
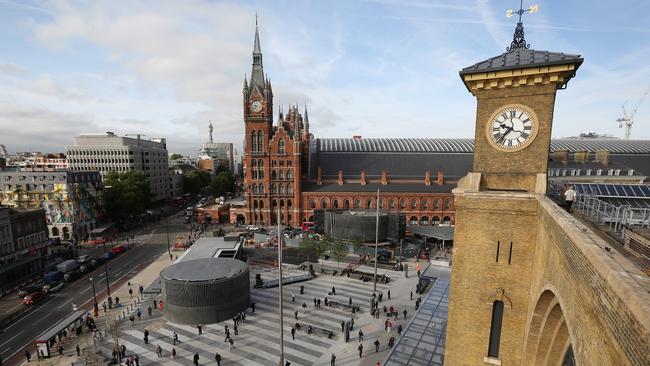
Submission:
[[528,364],[537,197],[546,193],[555,95],[583,59],[529,49],[521,21],[507,50],[460,72],[477,111],[473,169],[453,191],[447,365]]

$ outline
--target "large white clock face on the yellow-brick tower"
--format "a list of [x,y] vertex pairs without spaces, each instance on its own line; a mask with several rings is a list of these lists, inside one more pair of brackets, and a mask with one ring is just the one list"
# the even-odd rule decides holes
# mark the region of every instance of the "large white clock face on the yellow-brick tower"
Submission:
[[523,105],[502,107],[486,126],[490,144],[501,151],[519,151],[530,145],[537,135],[537,117]]

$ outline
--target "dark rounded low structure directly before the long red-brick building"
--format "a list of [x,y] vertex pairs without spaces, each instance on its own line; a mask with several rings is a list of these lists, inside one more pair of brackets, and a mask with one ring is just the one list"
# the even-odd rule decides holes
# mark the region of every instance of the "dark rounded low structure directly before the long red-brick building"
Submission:
[[[379,241],[384,242],[388,236],[389,217],[379,212]],[[326,211],[325,234],[334,238],[361,242],[375,241],[377,213],[374,211]]]

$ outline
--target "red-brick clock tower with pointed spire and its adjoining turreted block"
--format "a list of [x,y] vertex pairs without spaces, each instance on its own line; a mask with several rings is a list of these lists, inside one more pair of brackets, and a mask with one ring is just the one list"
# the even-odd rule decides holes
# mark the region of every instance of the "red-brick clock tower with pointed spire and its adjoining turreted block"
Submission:
[[253,70],[244,78],[244,184],[246,222],[274,225],[300,223],[302,151],[310,139],[309,120],[297,106],[278,114],[273,124],[273,91],[262,67],[260,36],[255,22]]

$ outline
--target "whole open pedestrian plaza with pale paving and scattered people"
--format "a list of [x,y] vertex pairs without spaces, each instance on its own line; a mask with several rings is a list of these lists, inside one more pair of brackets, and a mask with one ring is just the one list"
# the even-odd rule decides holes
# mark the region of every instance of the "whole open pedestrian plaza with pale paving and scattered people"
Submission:
[[[372,269],[367,267],[364,270]],[[267,273],[272,272],[267,271]],[[391,282],[377,284],[377,291],[382,293],[383,298],[379,303],[378,319],[370,314],[372,281],[363,282],[346,276],[322,274],[309,281],[283,286],[285,359],[292,366],[330,365],[332,354],[336,356],[336,365],[374,366],[377,362],[383,362],[390,351],[389,338],[395,337],[397,345],[400,345],[397,328],[402,326],[406,329],[415,314],[415,301],[418,297],[414,292],[417,283],[414,271],[411,272],[410,278],[405,278],[404,272],[379,270],[379,275],[384,273],[390,276]],[[303,294],[300,293],[301,286],[304,286]],[[335,296],[328,295],[332,287],[336,289]],[[388,299],[389,290],[391,299]],[[413,292],[412,300],[411,292]],[[345,306],[325,306],[326,296],[330,300],[337,301],[340,299],[349,301],[351,298],[353,304],[359,306],[360,310],[352,314],[352,311]],[[292,301],[292,297],[295,297],[295,301]],[[314,298],[323,300],[320,307],[314,306]],[[196,326],[170,323],[159,311],[154,311],[149,317],[146,311],[148,302],[144,301],[142,312],[145,315],[141,320],[122,321],[119,342],[126,347],[126,356],[138,355],[140,365],[192,365],[195,354],[199,354],[200,365],[216,365],[216,353],[221,355],[222,365],[278,365],[280,350],[278,288],[253,288],[251,282],[251,301],[255,303],[255,312],[253,313],[250,307],[247,309],[245,321],[238,325],[238,334],[234,332],[233,320],[228,320],[218,324],[203,324],[201,335]],[[384,306],[393,306],[398,313],[397,320],[390,317],[391,333],[388,333],[385,328],[388,317],[382,311]],[[404,310],[407,310],[406,317],[403,314]],[[295,319],[296,311],[298,319]],[[346,343],[341,322],[348,322],[352,318],[354,318],[354,326],[350,331],[349,342]],[[296,323],[301,327],[292,339],[291,328]],[[225,341],[225,325],[230,328],[230,336],[233,339],[232,350]],[[309,326],[313,329],[311,334],[307,332]],[[149,332],[148,344],[143,340],[145,329]],[[358,351],[360,329],[364,333],[361,342],[363,343],[361,358]],[[179,339],[175,345],[174,332],[178,334]],[[380,344],[379,352],[375,351],[376,340]],[[162,357],[156,355],[158,345],[162,348]],[[110,359],[113,347],[114,343],[110,337],[104,338],[100,344],[100,350],[107,360]],[[171,358],[172,348],[176,350],[175,359]]]

